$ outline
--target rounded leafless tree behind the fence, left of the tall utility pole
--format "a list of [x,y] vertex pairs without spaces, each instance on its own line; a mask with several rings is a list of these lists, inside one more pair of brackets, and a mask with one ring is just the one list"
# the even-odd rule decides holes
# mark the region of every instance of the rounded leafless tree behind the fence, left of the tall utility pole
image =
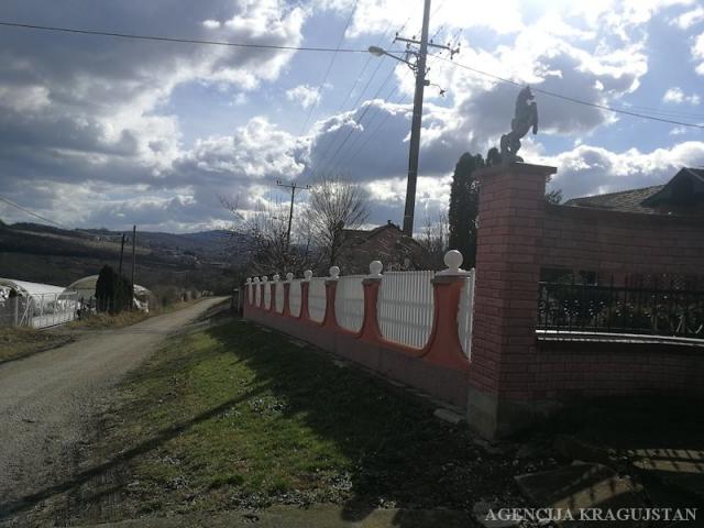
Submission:
[[308,220],[322,262],[338,263],[348,237],[345,230],[359,229],[369,216],[362,188],[340,177],[323,177],[310,190]]

